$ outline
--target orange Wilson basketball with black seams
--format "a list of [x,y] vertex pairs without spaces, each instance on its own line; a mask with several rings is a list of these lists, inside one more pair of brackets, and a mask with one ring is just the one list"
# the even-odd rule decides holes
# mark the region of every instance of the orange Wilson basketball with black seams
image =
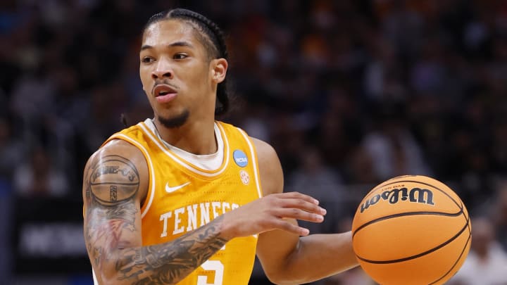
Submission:
[[471,224],[449,186],[407,175],[382,182],[363,198],[352,239],[359,264],[379,284],[444,284],[468,255]]

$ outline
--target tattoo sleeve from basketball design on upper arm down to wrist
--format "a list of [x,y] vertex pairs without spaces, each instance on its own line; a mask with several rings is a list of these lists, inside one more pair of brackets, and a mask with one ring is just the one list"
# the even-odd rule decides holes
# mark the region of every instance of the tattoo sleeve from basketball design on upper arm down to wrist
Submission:
[[220,216],[174,241],[132,247],[128,237],[140,231],[135,224],[138,206],[134,197],[140,181],[137,168],[127,158],[105,156],[86,173],[84,236],[96,270],[108,264],[118,272],[120,281],[173,284],[227,243],[219,236],[223,220]]

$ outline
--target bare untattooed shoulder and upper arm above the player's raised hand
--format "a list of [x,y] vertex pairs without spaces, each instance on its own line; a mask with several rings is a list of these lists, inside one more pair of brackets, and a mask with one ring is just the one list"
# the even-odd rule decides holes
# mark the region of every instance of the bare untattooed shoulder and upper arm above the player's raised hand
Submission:
[[257,152],[263,194],[281,193],[283,191],[283,171],[275,148],[261,139],[253,137],[250,139]]

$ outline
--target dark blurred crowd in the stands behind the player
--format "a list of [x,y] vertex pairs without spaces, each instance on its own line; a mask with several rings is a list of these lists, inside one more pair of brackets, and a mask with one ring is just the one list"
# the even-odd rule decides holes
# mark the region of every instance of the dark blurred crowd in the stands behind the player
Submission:
[[[237,96],[223,120],[275,147],[286,191],[322,201],[313,232],[349,230],[385,179],[430,175],[480,224],[451,282],[507,284],[503,0],[0,1],[0,284],[92,283],[84,163],[122,113],[153,116],[140,35],[176,6],[225,30]],[[251,284],[269,284],[258,265]],[[351,270],[315,284],[373,283]]]

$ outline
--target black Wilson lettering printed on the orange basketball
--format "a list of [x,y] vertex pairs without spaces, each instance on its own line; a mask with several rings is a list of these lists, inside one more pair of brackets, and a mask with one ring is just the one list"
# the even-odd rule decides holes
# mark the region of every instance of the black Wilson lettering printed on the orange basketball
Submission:
[[427,205],[434,205],[433,192],[428,189],[413,188],[410,191],[406,188],[392,189],[377,194],[368,199],[361,205],[361,213],[368,209],[371,205],[375,205],[380,200],[389,201],[389,204],[396,204],[398,201],[410,201],[412,203],[423,203]]

